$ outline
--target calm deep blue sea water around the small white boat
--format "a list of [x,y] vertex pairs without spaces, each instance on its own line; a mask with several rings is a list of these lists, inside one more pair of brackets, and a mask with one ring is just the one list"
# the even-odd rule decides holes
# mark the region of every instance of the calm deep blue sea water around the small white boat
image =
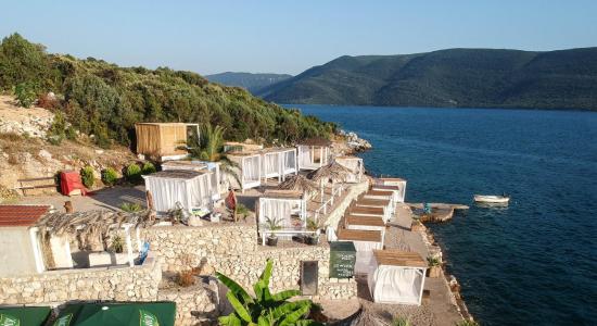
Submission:
[[471,204],[432,229],[483,325],[597,325],[597,113],[291,106],[371,141],[367,168],[408,201]]

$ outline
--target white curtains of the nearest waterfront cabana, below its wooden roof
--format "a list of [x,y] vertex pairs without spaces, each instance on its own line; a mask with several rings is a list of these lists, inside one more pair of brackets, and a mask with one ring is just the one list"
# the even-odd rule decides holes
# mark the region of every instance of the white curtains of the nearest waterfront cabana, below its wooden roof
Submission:
[[422,277],[420,269],[381,265],[367,280],[374,302],[418,304]]

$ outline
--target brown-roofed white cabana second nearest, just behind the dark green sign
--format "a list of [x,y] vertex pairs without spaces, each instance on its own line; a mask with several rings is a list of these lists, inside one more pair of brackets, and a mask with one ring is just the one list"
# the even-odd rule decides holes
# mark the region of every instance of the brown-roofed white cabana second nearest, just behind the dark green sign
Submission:
[[373,250],[383,249],[381,231],[339,228],[339,241],[352,241],[356,249],[355,274],[369,273]]

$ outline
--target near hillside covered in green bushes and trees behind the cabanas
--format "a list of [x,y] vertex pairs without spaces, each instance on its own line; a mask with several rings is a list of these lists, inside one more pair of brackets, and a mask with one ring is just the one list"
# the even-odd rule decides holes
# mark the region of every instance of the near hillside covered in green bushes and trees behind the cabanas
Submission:
[[[0,45],[0,89],[64,113],[81,133],[109,147],[134,143],[137,122],[196,122],[220,125],[231,140],[293,141],[328,136],[333,124],[253,97],[244,89],[207,82],[167,67],[119,67],[103,60],[46,53],[13,34]],[[43,95],[52,91],[58,100]],[[26,110],[26,109],[24,109]]]

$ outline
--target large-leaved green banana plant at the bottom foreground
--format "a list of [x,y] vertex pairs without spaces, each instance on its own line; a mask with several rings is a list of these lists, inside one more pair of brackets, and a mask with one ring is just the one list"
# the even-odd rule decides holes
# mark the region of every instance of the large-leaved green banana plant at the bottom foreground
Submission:
[[284,290],[278,293],[269,291],[269,279],[274,262],[267,260],[266,266],[257,283],[253,285],[255,296],[249,294],[238,283],[228,276],[216,273],[217,278],[228,287],[226,298],[234,309],[228,316],[218,322],[223,326],[315,326],[322,325],[307,318],[314,303],[310,300],[289,299],[300,296],[298,290]]

